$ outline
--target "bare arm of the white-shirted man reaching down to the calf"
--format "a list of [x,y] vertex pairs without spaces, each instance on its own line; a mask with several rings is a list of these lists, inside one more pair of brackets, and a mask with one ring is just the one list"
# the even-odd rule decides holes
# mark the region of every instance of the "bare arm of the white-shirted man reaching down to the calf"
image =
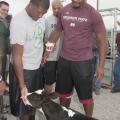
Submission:
[[28,93],[28,90],[24,83],[24,71],[23,71],[23,62],[22,62],[23,50],[24,50],[23,46],[19,44],[14,44],[12,45],[11,48],[13,66],[21,90],[21,98],[23,99],[23,102],[26,104],[26,95]]

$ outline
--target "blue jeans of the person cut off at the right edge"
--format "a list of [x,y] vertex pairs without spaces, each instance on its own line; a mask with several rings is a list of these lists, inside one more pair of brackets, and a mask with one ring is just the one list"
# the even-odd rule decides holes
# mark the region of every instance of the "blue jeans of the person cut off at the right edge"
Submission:
[[120,90],[120,53],[116,57],[114,66],[114,89]]

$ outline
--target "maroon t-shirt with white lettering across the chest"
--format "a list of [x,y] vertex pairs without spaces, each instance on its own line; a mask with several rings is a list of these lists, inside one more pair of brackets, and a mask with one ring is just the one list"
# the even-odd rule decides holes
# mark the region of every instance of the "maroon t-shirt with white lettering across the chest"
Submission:
[[57,28],[63,29],[60,56],[72,61],[92,59],[93,33],[105,33],[101,15],[89,4],[75,9],[65,6],[58,17]]

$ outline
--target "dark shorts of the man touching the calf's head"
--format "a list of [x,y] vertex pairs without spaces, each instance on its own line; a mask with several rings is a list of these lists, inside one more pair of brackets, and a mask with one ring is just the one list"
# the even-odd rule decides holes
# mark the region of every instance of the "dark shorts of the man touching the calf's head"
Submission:
[[[42,71],[41,68],[37,70],[24,70],[25,84],[28,92],[34,92],[38,89],[43,89]],[[10,64],[9,73],[9,91],[10,91],[10,108],[11,113],[18,117],[24,115],[31,115],[33,108],[25,106],[21,100],[18,80],[15,76],[13,65]]]

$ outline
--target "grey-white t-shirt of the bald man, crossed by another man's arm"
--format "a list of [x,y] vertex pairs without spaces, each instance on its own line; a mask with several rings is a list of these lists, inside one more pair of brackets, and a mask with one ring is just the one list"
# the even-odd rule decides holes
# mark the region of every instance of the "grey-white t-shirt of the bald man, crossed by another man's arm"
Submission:
[[[49,16],[45,20],[45,39],[44,39],[45,42],[47,42],[49,40],[52,31],[56,27],[56,24],[57,24],[57,17],[55,17],[54,15]],[[57,61],[58,60],[61,46],[62,46],[62,35],[55,45],[55,50],[52,53],[50,53],[49,57],[47,58],[47,61]]]

